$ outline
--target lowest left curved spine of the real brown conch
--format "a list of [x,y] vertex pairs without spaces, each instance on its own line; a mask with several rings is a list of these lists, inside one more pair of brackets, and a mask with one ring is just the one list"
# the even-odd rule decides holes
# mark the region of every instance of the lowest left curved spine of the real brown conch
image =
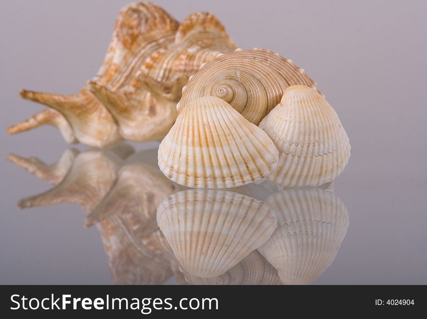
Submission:
[[64,118],[61,113],[54,109],[44,109],[43,111],[34,114],[27,120],[8,127],[7,133],[21,133],[41,125],[54,126],[61,132],[67,143],[77,143],[73,129],[71,128],[66,118]]

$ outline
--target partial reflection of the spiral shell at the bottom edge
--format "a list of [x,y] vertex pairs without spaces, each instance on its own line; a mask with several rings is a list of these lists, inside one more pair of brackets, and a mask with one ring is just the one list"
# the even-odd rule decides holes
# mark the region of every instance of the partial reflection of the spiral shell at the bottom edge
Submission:
[[180,269],[190,285],[280,285],[277,270],[257,251],[249,253],[240,263],[222,275],[201,278]]

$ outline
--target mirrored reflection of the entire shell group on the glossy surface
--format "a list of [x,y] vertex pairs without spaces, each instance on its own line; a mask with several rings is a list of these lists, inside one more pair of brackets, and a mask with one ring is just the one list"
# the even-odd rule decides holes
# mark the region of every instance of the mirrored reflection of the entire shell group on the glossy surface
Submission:
[[55,185],[19,207],[82,206],[84,225],[99,230],[116,284],[171,277],[190,285],[310,284],[333,262],[348,227],[333,185],[186,189],[161,173],[157,149],[69,149],[52,165],[8,159]]

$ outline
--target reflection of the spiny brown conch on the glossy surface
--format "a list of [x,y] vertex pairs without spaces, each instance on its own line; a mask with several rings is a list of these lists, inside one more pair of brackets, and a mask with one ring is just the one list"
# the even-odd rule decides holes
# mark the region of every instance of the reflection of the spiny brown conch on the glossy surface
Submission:
[[156,162],[157,150],[129,156],[132,152],[128,145],[67,150],[50,166],[35,158],[8,159],[57,184],[21,200],[21,207],[73,202],[89,213],[85,223],[96,224],[116,284],[162,284],[172,275],[183,282],[155,218],[158,203],[176,191],[176,185],[148,164]]

